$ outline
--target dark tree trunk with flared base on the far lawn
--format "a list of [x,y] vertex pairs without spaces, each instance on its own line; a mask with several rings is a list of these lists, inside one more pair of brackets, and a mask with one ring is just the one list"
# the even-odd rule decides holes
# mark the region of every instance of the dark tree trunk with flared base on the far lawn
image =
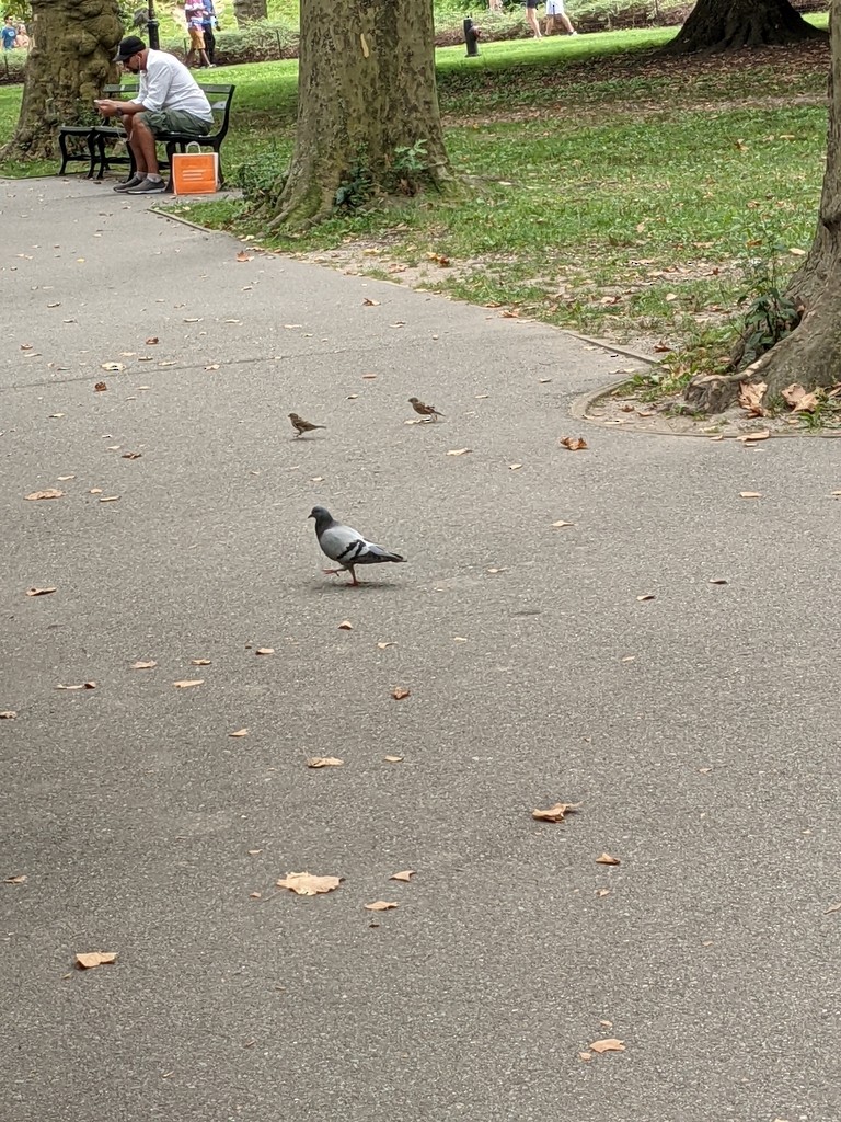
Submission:
[[823,34],[807,24],[788,0],[697,0],[666,50],[739,50],[801,43]]

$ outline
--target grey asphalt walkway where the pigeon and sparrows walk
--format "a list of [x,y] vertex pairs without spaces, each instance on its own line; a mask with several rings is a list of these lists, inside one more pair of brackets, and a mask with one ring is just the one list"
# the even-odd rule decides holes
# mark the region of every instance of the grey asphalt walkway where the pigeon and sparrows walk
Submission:
[[0,197],[4,1119],[838,1122],[838,447],[571,453],[627,359]]

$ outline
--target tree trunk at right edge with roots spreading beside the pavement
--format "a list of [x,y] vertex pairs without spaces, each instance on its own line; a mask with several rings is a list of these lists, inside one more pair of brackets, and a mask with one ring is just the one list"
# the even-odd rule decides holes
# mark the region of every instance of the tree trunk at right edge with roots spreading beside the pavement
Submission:
[[841,383],[841,0],[830,6],[830,120],[826,171],[812,248],[786,296],[802,309],[798,325],[749,367],[729,377],[708,375],[686,389],[686,401],[706,412],[732,404],[740,381],[764,381],[764,399],[786,386],[806,389]]

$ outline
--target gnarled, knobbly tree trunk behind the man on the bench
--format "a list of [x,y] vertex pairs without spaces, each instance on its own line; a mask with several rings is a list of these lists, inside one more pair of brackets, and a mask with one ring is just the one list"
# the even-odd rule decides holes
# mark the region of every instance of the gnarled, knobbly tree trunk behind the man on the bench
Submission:
[[49,158],[61,125],[92,118],[93,99],[115,76],[120,7],[118,0],[33,0],[29,33],[20,117],[3,159]]

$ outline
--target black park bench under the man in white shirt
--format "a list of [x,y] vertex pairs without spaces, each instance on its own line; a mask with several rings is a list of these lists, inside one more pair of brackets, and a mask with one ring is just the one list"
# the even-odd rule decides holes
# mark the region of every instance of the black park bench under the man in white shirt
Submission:
[[[173,156],[176,151],[186,151],[188,144],[198,144],[203,148],[211,148],[219,156],[219,182],[220,184],[224,182],[224,176],[222,174],[222,141],[224,140],[228,128],[231,121],[231,102],[233,101],[233,91],[237,89],[234,85],[202,85],[201,89],[207,96],[207,101],[211,103],[211,109],[213,110],[213,128],[207,134],[207,136],[195,136],[191,132],[161,132],[156,137],[158,144],[163,144],[166,147],[166,158],[159,160],[161,171],[168,171],[170,174],[169,183],[167,184],[167,191],[172,191],[172,163]],[[127,85],[107,85],[103,90],[105,98],[121,98],[128,95],[129,100],[138,92],[138,85],[136,83]],[[87,155],[84,154],[72,154],[67,153],[67,139],[68,138],[83,138],[87,147]],[[105,174],[105,171],[114,165],[127,165],[128,176],[131,178],[135,174],[135,154],[131,151],[128,145],[126,145],[124,155],[115,155],[113,151],[109,151],[109,145],[114,142],[124,142],[126,130],[118,126],[109,125],[78,125],[78,126],[62,126],[58,132],[58,147],[62,151],[62,167],[58,172],[59,175],[64,174],[67,164],[73,162],[86,162],[87,178],[92,180],[96,175],[98,180],[101,180]]]

